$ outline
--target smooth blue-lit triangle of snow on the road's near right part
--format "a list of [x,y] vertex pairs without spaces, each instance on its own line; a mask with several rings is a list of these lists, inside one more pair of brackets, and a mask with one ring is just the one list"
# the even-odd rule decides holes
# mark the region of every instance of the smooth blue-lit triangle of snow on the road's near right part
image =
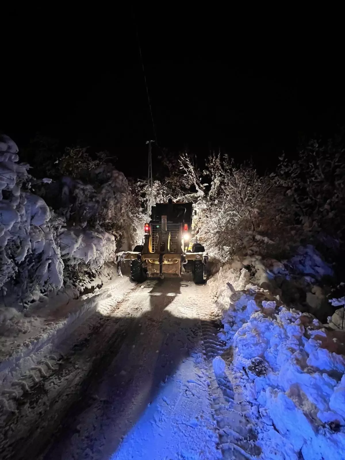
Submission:
[[208,380],[197,353],[176,374],[127,434],[111,460],[216,460],[218,436],[210,409]]

